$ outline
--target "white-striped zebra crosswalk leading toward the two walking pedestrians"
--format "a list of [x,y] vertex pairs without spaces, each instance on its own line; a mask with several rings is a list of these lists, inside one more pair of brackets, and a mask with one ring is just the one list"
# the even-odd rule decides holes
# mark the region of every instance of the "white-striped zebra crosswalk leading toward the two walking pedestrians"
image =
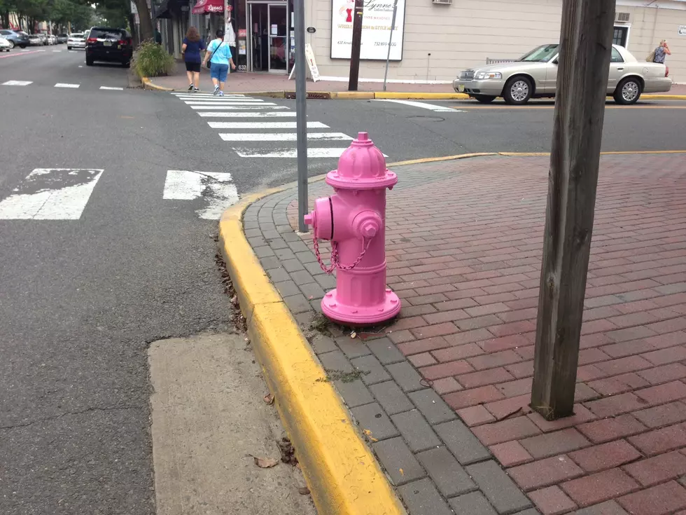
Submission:
[[[251,97],[216,97],[209,93],[182,92],[172,95],[202,118],[229,118],[230,121],[208,121],[207,125],[221,130],[219,137],[223,141],[237,145],[232,149],[241,158],[297,158],[297,123],[293,119],[296,114],[290,108]],[[283,118],[290,118],[291,121]],[[306,125],[307,129],[323,129],[321,132],[308,131],[308,158],[339,158],[348,148],[347,142],[353,139],[343,132],[328,132],[330,127],[320,121],[310,120]],[[292,132],[284,132],[284,129]],[[332,146],[332,142],[341,143],[339,146]]]

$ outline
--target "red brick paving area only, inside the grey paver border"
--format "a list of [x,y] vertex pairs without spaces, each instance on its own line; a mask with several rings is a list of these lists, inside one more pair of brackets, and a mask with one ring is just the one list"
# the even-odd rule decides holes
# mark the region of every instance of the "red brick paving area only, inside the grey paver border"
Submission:
[[528,406],[548,158],[421,166],[452,173],[388,193],[391,341],[543,513],[685,510],[686,160],[601,158],[575,415],[552,422]]

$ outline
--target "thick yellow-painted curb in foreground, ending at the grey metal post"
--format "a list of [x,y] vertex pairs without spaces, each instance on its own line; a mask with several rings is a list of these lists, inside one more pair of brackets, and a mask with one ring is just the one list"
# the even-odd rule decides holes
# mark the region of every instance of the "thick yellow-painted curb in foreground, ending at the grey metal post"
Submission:
[[244,210],[288,186],[248,196],[219,222],[226,267],[276,408],[320,514],[402,515],[393,488],[365,445],[290,310],[243,232]]

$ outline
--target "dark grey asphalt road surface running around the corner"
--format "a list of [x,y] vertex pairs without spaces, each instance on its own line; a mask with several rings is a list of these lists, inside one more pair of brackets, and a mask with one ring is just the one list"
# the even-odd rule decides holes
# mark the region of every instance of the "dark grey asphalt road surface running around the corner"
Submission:
[[[221,110],[127,89],[125,69],[86,67],[83,53],[64,45],[7,55],[0,58],[0,513],[151,514],[148,345],[227,327],[208,207],[221,212],[235,193],[293,181],[295,143],[262,135],[295,131],[212,127],[251,118],[198,116]],[[224,112],[295,111],[291,100],[235,102]],[[311,158],[309,173],[335,167],[331,156],[358,130],[370,132],[389,162],[549,149],[550,104],[423,104],[309,101],[308,119],[318,124],[310,133],[325,134],[311,149],[330,156]],[[685,104],[643,107],[608,109],[603,149],[683,148]],[[197,191],[170,186],[179,170],[186,179],[202,172]],[[66,214],[45,194],[62,195]],[[12,204],[27,198],[40,200],[33,214]]]

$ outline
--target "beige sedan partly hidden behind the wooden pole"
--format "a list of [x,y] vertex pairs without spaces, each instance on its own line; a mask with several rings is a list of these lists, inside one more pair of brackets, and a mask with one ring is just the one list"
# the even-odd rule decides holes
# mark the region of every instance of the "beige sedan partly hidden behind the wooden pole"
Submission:
[[[558,58],[558,44],[539,46],[514,62],[461,71],[453,81],[453,88],[484,104],[496,97],[503,97],[507,104],[554,97]],[[641,93],[669,91],[672,79],[668,74],[664,64],[639,62],[623,46],[612,45],[608,95],[617,104],[635,104]]]

